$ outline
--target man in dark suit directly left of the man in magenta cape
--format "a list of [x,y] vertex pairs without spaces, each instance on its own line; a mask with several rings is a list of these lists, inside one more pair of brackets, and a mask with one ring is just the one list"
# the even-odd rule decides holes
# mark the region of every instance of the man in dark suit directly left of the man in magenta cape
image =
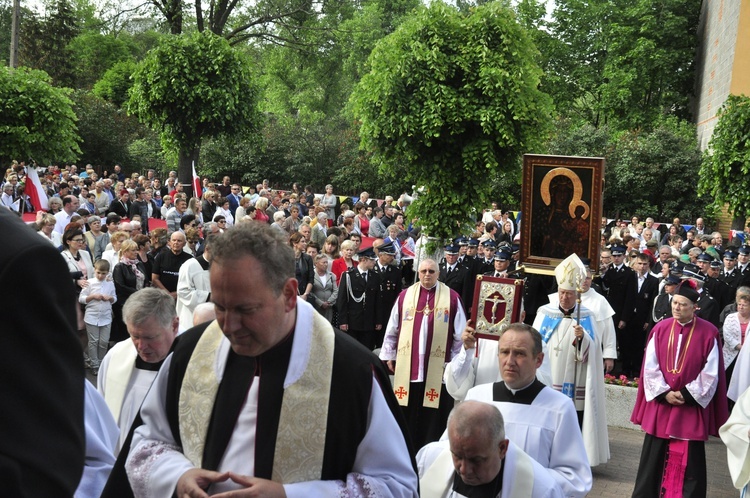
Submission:
[[649,272],[651,260],[639,254],[635,261],[635,300],[633,314],[628,321],[620,343],[622,370],[628,377],[639,377],[643,363],[643,348],[646,345],[654,299],[659,293],[659,280]]

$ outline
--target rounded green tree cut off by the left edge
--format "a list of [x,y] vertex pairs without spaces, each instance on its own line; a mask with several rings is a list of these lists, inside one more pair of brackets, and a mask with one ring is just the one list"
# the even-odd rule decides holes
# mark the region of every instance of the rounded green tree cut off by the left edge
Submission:
[[70,92],[43,71],[0,68],[0,161],[72,161],[78,147]]

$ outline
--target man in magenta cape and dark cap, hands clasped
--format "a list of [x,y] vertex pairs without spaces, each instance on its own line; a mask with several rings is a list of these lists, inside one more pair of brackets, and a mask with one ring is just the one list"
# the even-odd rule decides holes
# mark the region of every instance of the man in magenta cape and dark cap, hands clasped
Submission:
[[648,338],[631,417],[646,432],[634,497],[706,496],[705,441],[726,422],[727,401],[719,332],[695,315],[698,298],[683,281],[672,318]]

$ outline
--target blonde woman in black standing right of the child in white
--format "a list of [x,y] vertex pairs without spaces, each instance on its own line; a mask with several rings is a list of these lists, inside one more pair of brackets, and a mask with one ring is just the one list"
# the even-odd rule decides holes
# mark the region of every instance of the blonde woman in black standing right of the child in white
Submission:
[[113,319],[110,336],[114,342],[128,338],[127,328],[122,321],[122,307],[131,295],[147,287],[150,281],[150,275],[146,274],[146,267],[138,258],[138,244],[135,241],[128,239],[120,244],[118,259],[119,263],[112,271],[117,292],[117,301],[112,305]]

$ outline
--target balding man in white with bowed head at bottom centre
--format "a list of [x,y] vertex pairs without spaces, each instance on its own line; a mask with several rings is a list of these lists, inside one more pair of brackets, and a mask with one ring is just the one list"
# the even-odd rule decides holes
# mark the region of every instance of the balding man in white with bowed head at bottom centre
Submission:
[[431,498],[563,497],[550,474],[505,439],[503,416],[492,405],[465,401],[448,418],[448,441],[417,455],[422,496]]

